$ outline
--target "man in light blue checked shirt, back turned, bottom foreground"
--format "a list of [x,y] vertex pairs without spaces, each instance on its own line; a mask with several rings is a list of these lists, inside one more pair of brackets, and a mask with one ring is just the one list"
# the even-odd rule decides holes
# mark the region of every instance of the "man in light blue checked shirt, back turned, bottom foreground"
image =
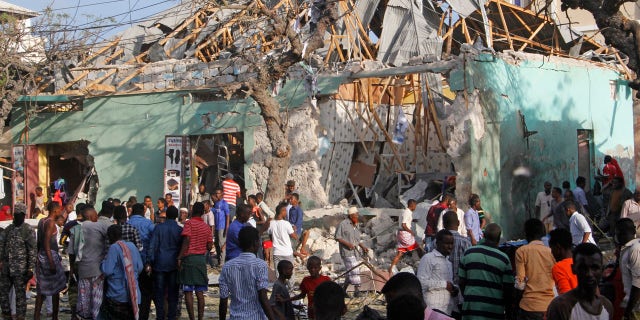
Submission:
[[276,319],[267,298],[269,268],[264,260],[256,257],[260,246],[258,230],[251,226],[242,228],[238,242],[242,253],[225,263],[220,274],[219,318],[226,319],[231,298],[231,320]]

